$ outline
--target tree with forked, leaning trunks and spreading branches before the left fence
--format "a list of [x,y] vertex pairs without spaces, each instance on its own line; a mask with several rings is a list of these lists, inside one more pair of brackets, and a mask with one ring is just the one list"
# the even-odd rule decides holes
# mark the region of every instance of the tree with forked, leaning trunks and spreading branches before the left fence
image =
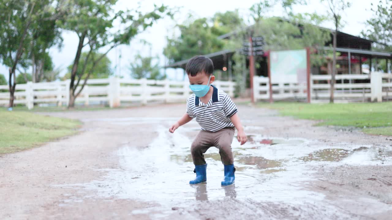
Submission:
[[[172,16],[171,10],[166,6],[154,5],[149,13],[138,10],[115,11],[114,5],[118,0],[74,0],[73,7],[66,20],[60,21],[65,30],[78,35],[79,42],[71,69],[71,85],[69,91],[69,106],[73,107],[76,97],[82,92],[97,64],[105,55],[121,44],[129,43],[134,36],[150,27],[156,20],[163,16]],[[123,29],[118,30],[114,24],[120,23]],[[87,49],[87,56],[81,64],[82,49]],[[102,55],[99,50],[104,50]],[[87,63],[91,61],[91,69],[87,71]],[[80,76],[77,81],[76,77]],[[84,79],[78,91],[80,79]]]

